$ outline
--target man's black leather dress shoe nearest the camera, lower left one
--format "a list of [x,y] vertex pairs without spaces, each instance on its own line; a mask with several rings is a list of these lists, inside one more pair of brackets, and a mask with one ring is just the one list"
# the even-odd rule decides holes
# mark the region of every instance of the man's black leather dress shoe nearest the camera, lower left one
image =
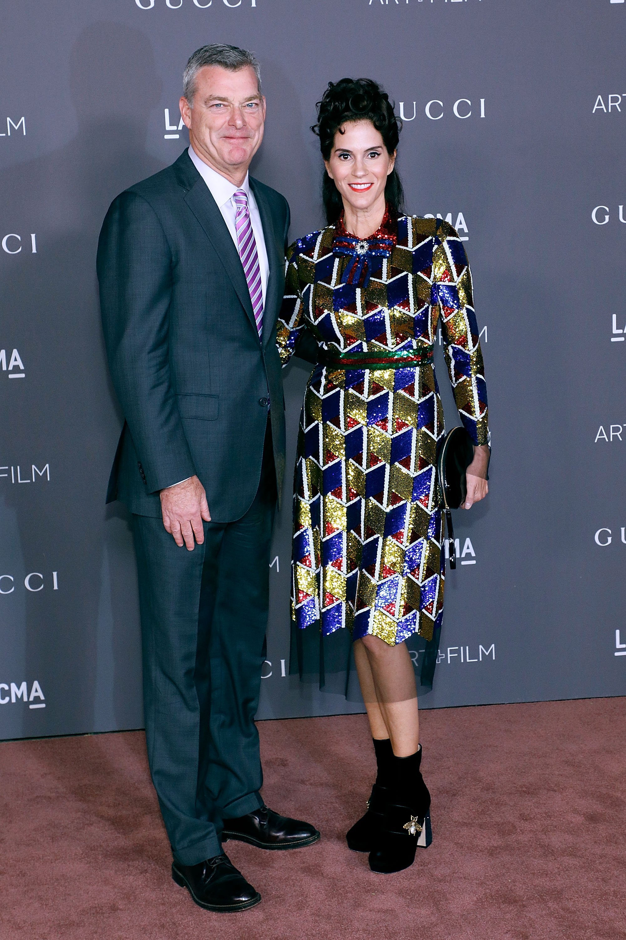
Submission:
[[216,855],[198,865],[173,862],[172,877],[207,911],[245,911],[261,901],[259,892],[237,871],[228,855]]

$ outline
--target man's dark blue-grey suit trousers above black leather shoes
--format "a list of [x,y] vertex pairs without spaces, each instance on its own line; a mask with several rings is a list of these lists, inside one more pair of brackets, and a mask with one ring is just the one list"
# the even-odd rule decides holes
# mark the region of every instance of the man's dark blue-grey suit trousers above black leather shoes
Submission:
[[182,865],[221,854],[223,820],[263,802],[254,714],[266,655],[275,480],[268,428],[251,508],[237,522],[205,523],[203,545],[178,548],[160,519],[132,517],[148,761]]

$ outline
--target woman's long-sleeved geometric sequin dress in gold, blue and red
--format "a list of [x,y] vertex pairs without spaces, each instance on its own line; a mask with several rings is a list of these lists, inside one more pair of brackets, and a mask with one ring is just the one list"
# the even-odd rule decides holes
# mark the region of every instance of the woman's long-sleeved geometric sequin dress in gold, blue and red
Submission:
[[325,659],[327,670],[344,668],[351,641],[364,635],[390,645],[417,636],[421,684],[432,686],[445,580],[438,325],[461,420],[475,444],[486,444],[471,274],[447,222],[388,211],[370,239],[350,236],[340,220],[289,248],[282,363],[305,330],[321,359],[304,396],[294,481],[300,672],[307,658],[321,673]]

